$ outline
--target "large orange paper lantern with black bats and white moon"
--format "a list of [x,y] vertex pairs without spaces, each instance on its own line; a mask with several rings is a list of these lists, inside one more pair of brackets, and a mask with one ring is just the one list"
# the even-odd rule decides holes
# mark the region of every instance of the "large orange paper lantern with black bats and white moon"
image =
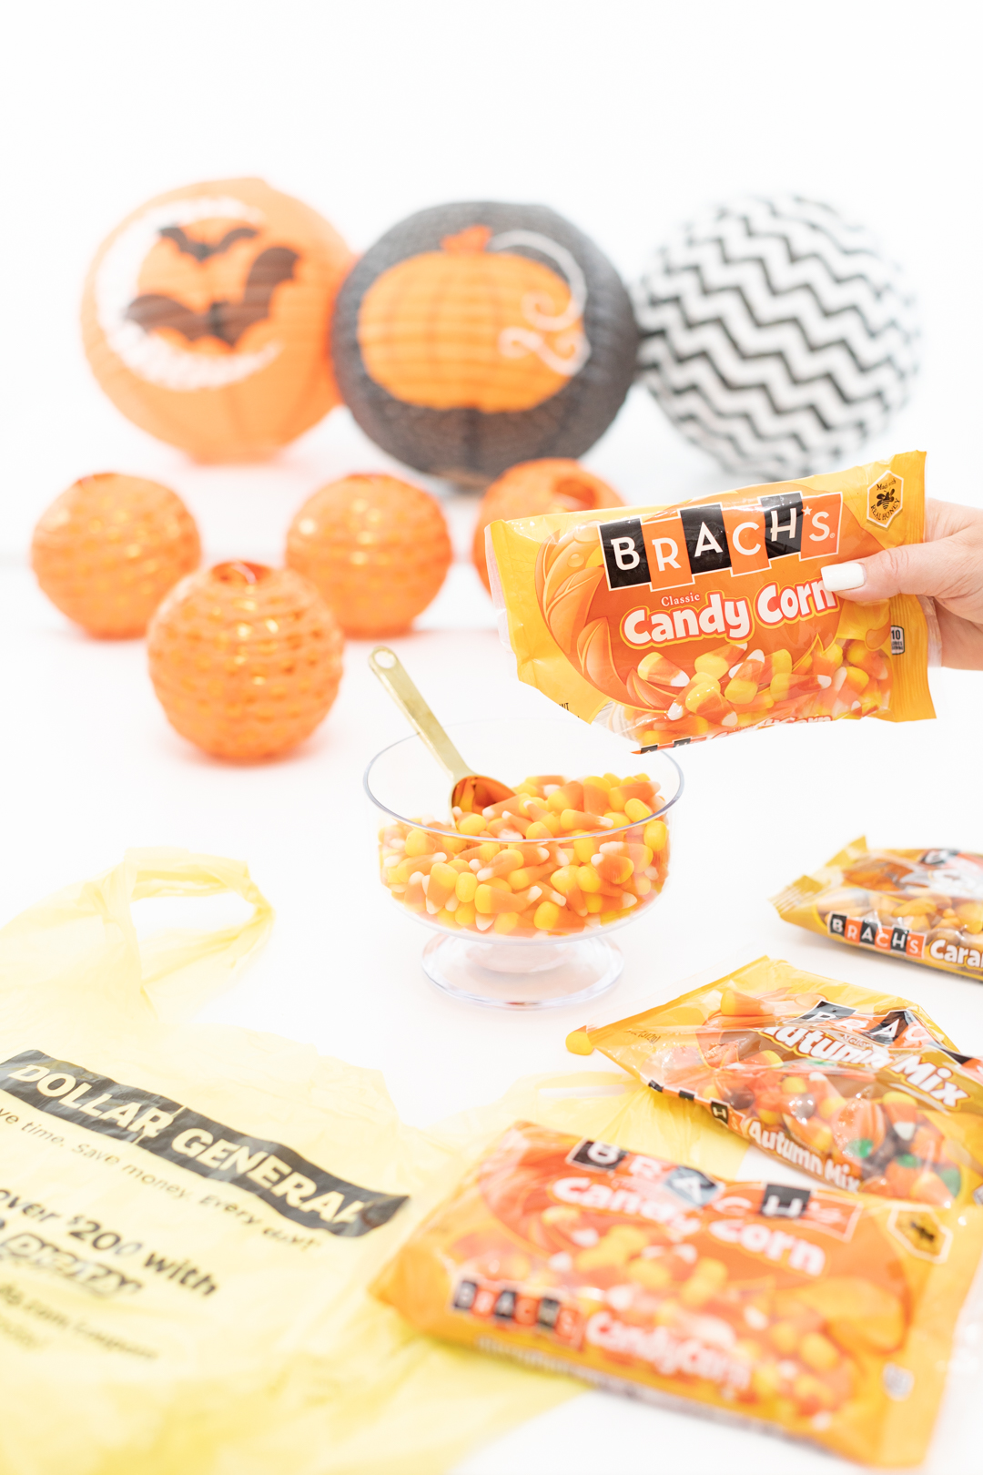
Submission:
[[339,403],[329,329],[352,260],[326,220],[262,180],[158,195],[90,267],[88,361],[150,435],[199,460],[267,456]]

